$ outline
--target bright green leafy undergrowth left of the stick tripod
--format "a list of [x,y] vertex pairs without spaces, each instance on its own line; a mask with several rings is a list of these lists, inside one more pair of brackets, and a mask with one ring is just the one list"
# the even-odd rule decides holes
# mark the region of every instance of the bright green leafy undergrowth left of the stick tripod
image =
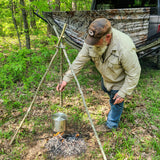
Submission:
[[0,90],[14,86],[17,82],[24,88],[37,86],[46,70],[46,62],[53,51],[42,48],[39,52],[23,49],[12,52],[6,59],[0,55]]

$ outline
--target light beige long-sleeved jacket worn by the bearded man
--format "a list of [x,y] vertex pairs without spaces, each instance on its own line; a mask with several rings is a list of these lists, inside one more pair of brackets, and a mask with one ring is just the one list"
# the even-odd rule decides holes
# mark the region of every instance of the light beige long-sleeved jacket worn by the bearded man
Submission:
[[[96,54],[93,46],[84,43],[78,56],[72,63],[72,68],[77,74],[84,64],[92,60],[97,70],[101,73],[104,86],[108,91],[119,90],[118,95],[130,95],[136,87],[141,67],[136,54],[136,47],[131,38],[112,28],[111,43],[105,53],[105,58]],[[69,69],[63,80],[69,82],[73,78]]]

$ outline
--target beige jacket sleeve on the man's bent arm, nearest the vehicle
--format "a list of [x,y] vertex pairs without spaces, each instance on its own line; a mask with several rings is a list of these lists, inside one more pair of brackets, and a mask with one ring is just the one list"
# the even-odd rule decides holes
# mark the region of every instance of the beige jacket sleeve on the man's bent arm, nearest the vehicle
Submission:
[[121,64],[126,77],[123,86],[118,91],[118,95],[124,98],[125,95],[131,95],[140,78],[141,67],[135,48],[122,54]]

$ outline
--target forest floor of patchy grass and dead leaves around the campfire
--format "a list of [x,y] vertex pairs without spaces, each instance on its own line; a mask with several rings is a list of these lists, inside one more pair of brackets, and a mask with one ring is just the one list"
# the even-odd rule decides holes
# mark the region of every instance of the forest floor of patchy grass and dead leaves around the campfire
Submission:
[[[99,73],[89,62],[78,75],[88,110],[109,160],[160,159],[160,72],[150,64],[142,63],[139,84],[133,94],[125,98],[119,128],[112,132],[105,132],[102,127],[110,105],[108,95],[100,88]],[[3,97],[0,98],[0,160],[48,159],[45,144],[53,137],[52,115],[56,112],[67,114],[67,133],[79,133],[87,146],[86,152],[80,156],[57,159],[103,159],[75,81],[71,81],[63,93],[63,107],[55,90],[57,83],[51,80],[44,82],[11,146],[9,142],[32,101],[35,88],[22,93],[20,88],[23,86],[19,82],[16,87],[5,91],[12,101],[5,103]],[[14,102],[18,101],[23,101],[24,106],[16,107],[18,104]],[[14,106],[8,109],[6,106],[11,103]]]

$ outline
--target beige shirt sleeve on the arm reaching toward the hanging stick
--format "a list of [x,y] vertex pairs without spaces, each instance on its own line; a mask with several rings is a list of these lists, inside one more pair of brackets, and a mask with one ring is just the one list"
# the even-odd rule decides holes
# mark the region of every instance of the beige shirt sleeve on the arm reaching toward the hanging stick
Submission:
[[[90,56],[88,53],[88,47],[84,43],[81,51],[78,53],[78,56],[71,65],[75,74],[78,74],[79,71],[83,68],[83,66],[90,60]],[[64,74],[63,81],[66,81],[68,83],[69,81],[71,81],[72,78],[73,74],[71,69],[69,68],[69,70]]]

